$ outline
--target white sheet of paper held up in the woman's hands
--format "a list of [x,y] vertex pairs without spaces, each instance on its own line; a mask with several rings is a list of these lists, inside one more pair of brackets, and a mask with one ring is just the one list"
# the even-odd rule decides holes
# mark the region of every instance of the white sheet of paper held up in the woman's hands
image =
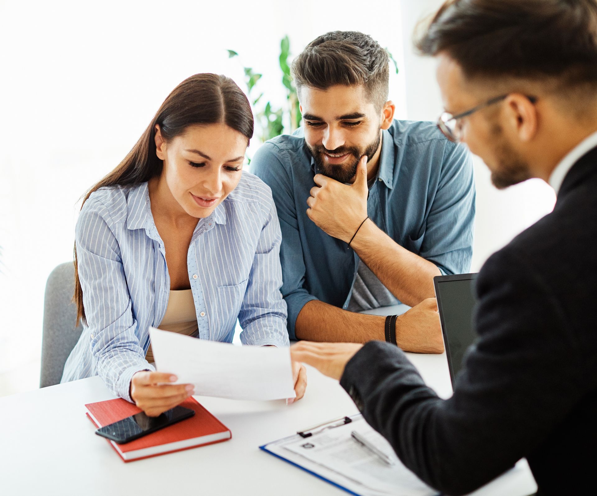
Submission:
[[195,394],[268,400],[296,398],[290,349],[235,346],[149,328],[156,369],[195,384]]

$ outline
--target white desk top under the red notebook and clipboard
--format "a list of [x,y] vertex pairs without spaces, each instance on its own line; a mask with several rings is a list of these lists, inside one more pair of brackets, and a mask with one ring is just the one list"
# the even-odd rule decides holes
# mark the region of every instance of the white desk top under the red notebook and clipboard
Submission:
[[[444,355],[411,359],[431,386],[450,394]],[[94,435],[85,417],[85,403],[113,398],[99,377],[0,398],[0,494],[345,495],[258,449],[309,425],[356,413],[337,381],[313,368],[307,374],[307,393],[293,405],[198,396],[232,430],[232,440],[131,463]],[[475,495],[522,496],[535,487],[525,469]]]

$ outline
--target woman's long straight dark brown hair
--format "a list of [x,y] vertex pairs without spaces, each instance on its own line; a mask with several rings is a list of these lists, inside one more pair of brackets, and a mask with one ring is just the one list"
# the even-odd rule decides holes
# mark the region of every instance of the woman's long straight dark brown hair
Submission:
[[[202,73],[181,82],[164,100],[133,149],[112,172],[95,184],[85,195],[83,204],[91,193],[106,186],[135,186],[159,176],[162,161],[156,155],[155,125],[159,124],[162,137],[170,141],[183,134],[192,124],[217,124],[223,122],[247,137],[253,137],[253,113],[247,97],[232,79],[226,76]],[[81,205],[82,208],[82,205]],[[75,295],[76,324],[85,318],[83,291],[75,244]]]

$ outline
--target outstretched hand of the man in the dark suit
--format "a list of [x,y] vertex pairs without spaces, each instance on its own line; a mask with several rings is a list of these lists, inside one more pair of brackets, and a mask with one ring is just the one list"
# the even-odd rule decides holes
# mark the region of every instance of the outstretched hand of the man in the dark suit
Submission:
[[307,363],[322,374],[340,380],[346,363],[361,349],[356,343],[312,343],[298,341],[290,347],[293,362]]

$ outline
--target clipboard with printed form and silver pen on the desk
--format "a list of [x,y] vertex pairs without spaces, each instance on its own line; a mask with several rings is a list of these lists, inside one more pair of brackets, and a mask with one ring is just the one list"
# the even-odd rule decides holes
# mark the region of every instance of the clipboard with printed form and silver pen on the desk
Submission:
[[319,424],[260,448],[357,496],[438,494],[402,464],[361,414]]

